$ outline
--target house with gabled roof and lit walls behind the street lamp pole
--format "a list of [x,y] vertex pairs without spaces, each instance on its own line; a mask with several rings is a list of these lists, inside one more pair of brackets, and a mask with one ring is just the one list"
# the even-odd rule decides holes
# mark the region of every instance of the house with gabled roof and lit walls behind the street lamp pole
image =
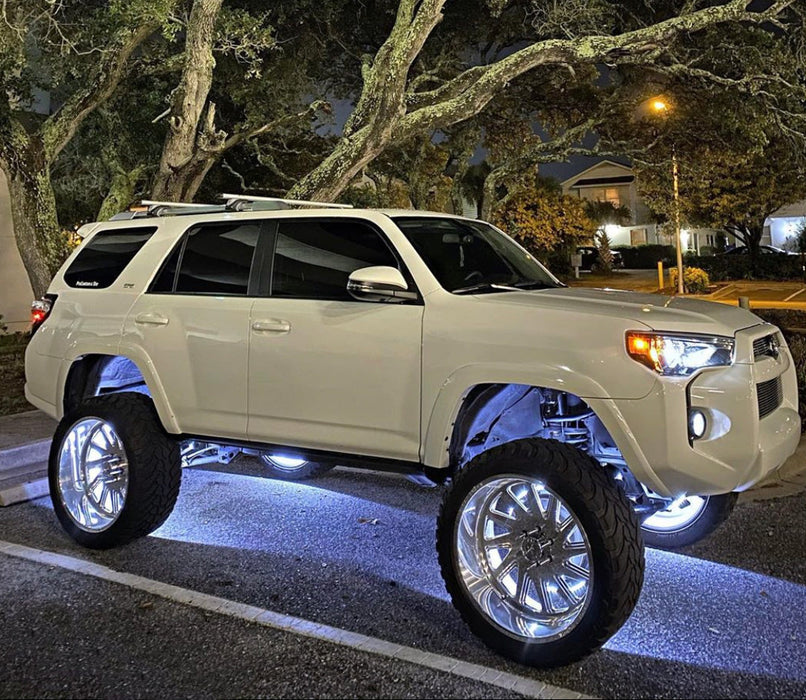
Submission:
[[[610,202],[630,210],[628,224],[607,224],[604,227],[611,245],[674,245],[668,227],[659,226],[652,220],[649,208],[638,194],[635,175],[629,165],[602,160],[563,181],[561,187],[564,194],[591,202]],[[716,241],[716,232],[710,229],[684,228],[680,234],[683,247],[696,252],[704,246],[713,246]]]

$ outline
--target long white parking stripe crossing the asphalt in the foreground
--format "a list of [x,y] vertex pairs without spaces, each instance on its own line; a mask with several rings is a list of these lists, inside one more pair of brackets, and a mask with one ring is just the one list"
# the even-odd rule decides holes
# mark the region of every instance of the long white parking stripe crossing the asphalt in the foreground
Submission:
[[145,591],[146,593],[151,593],[152,595],[166,598],[176,603],[215,612],[219,615],[227,615],[248,622],[255,622],[273,629],[299,634],[304,637],[313,637],[314,639],[320,639],[325,642],[340,644],[357,651],[405,661],[436,671],[450,673],[454,676],[483,681],[484,683],[489,683],[490,685],[495,685],[506,690],[512,690],[527,697],[589,697],[566,688],[548,685],[547,683],[542,683],[532,678],[525,678],[513,673],[505,673],[487,666],[460,661],[450,656],[442,656],[441,654],[434,654],[430,651],[422,651],[421,649],[395,644],[394,642],[387,642],[383,639],[376,639],[375,637],[367,637],[366,635],[339,629],[338,627],[320,625],[300,617],[284,615],[272,610],[264,610],[263,608],[258,608],[253,605],[236,603],[226,598],[218,598],[217,596],[199,593],[198,591],[192,591],[187,588],[172,586],[171,584],[154,581],[153,579],[148,579],[143,576],[115,571],[109,567],[94,564],[93,562],[79,559],[78,557],[47,552],[41,549],[34,549],[33,547],[14,544],[13,542],[5,542],[3,540],[0,540],[0,553],[37,562],[39,564],[56,566],[60,569],[92,576],[104,581],[111,581],[112,583],[118,583],[128,588]]

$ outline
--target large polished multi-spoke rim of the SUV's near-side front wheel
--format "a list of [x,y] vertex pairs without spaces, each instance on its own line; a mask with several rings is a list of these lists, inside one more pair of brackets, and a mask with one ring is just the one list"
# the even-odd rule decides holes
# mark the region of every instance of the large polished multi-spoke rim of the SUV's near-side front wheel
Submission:
[[591,548],[568,504],[538,479],[479,484],[456,527],[460,580],[481,612],[519,637],[570,632],[592,591]]

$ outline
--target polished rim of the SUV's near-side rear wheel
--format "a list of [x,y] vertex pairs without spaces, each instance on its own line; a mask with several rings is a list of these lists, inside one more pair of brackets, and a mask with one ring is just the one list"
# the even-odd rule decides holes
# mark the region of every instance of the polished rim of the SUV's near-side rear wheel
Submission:
[[129,486],[129,460],[115,429],[101,418],[74,423],[59,453],[59,497],[75,524],[101,532],[120,516]]

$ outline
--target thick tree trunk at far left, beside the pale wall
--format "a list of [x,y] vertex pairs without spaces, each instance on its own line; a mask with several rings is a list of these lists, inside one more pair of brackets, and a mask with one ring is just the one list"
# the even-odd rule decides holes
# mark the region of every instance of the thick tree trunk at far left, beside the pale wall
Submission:
[[3,168],[8,178],[14,237],[36,298],[48,289],[67,254],[56,217],[50,168],[28,172]]

